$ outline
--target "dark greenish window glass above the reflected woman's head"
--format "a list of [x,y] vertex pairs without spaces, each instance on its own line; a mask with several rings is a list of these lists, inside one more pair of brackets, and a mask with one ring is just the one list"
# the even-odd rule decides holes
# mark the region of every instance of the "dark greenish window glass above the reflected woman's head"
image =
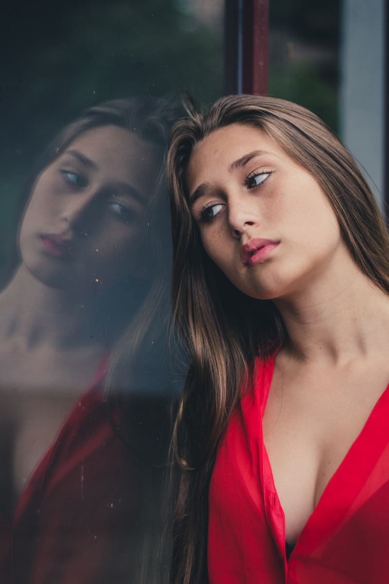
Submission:
[[223,93],[223,0],[19,2],[1,29],[2,255],[31,162],[85,107],[181,89],[208,103]]

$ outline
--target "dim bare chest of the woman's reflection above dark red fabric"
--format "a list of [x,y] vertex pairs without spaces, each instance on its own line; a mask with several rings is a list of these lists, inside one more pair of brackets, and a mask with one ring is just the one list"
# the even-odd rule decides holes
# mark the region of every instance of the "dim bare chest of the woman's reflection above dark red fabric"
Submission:
[[98,369],[96,359],[45,351],[0,354],[0,506],[9,516]]

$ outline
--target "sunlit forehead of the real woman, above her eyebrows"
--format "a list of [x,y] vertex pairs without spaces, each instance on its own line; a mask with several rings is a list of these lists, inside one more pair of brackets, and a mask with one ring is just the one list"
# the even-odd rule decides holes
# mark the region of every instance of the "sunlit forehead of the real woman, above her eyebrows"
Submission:
[[192,151],[186,173],[188,188],[212,178],[220,170],[228,170],[233,162],[257,150],[286,158],[286,153],[260,128],[231,124],[213,131]]

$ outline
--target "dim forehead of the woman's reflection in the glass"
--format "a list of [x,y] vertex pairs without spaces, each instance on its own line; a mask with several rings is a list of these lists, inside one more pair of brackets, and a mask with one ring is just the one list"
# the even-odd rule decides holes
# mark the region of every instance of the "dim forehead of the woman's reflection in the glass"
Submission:
[[80,134],[62,155],[78,151],[89,158],[97,171],[120,180],[134,175],[152,174],[157,153],[155,148],[138,135],[117,126],[92,128]]

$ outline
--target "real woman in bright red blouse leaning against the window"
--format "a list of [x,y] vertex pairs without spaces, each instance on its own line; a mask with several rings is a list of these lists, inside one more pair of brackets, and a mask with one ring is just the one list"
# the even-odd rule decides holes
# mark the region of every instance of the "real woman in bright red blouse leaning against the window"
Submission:
[[259,96],[190,107],[169,157],[192,361],[172,581],[388,582],[389,241],[365,179]]

